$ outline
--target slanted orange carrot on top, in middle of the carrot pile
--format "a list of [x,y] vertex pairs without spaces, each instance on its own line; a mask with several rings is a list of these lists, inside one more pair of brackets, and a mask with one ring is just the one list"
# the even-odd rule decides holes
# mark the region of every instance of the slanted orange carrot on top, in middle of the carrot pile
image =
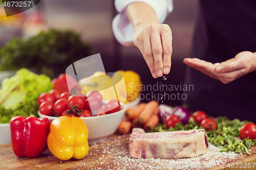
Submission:
[[144,110],[140,113],[138,116],[139,122],[141,124],[144,124],[150,119],[150,117],[156,112],[156,109],[158,108],[158,102],[157,101],[150,101],[146,104]]

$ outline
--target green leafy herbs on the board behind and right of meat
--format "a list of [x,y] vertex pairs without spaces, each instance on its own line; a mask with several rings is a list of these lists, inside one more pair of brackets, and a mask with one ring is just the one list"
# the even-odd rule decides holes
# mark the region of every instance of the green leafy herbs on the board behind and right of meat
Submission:
[[[215,131],[206,131],[207,139],[210,143],[214,144],[217,147],[222,147],[220,152],[235,152],[235,153],[242,153],[246,152],[248,155],[248,149],[251,145],[256,144],[256,139],[244,139],[241,140],[237,138],[240,136],[239,132],[241,127],[248,123],[247,120],[240,121],[239,119],[228,120],[227,117],[217,117],[216,123],[218,125],[217,130]],[[166,132],[166,131],[178,131],[178,130],[190,130],[190,129],[202,129],[202,127],[198,127],[195,123],[193,117],[189,118],[189,122],[186,125],[182,125],[181,123],[176,124],[175,127],[170,127],[166,129],[166,126],[159,123],[154,130],[151,132]],[[240,141],[238,141],[240,140]]]

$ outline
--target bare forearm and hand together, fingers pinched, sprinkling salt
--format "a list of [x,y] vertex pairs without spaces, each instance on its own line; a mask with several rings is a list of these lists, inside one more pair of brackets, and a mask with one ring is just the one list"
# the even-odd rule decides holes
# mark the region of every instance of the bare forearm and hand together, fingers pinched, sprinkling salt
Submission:
[[146,3],[131,3],[126,13],[135,30],[133,42],[142,53],[152,76],[167,75],[173,52],[170,27],[159,24],[155,10]]

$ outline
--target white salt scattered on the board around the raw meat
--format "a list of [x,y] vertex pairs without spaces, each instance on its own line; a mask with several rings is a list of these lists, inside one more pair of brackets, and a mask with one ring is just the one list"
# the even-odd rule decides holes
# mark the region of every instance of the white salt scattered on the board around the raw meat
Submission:
[[[130,136],[130,135],[129,135]],[[127,139],[127,136],[122,135]],[[111,156],[102,156],[101,159],[105,160],[105,168],[109,169],[206,169],[224,167],[224,164],[243,158],[242,154],[235,154],[234,152],[219,152],[220,148],[209,143],[209,148],[206,154],[193,158],[181,158],[181,159],[137,159],[129,157],[128,144],[129,141],[123,141],[122,139],[103,141],[105,145],[111,143],[111,147],[106,147],[102,153],[107,152]],[[116,147],[119,145],[119,147]],[[97,144],[90,146],[91,148],[97,148]],[[89,151],[90,158],[90,151]],[[101,161],[102,161],[101,160]],[[92,169],[101,169],[102,167],[95,167]]]

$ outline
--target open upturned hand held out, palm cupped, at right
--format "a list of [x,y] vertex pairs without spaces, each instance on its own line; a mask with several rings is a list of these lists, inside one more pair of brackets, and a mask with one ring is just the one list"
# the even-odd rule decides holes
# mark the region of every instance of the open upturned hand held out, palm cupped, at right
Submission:
[[256,52],[241,52],[222,63],[212,64],[197,58],[185,58],[183,62],[224,84],[230,83],[256,70]]

